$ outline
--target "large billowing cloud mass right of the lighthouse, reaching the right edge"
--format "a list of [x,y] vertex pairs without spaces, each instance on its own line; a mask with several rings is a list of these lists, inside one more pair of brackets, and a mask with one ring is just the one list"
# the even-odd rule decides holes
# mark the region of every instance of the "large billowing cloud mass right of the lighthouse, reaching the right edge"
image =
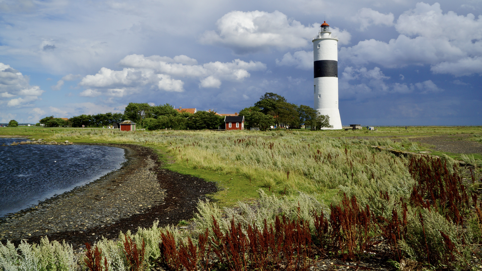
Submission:
[[[453,31],[450,31],[448,27]],[[434,73],[455,76],[482,74],[482,17],[473,14],[443,13],[439,3],[419,2],[415,9],[398,18],[397,39],[388,42],[374,39],[341,48],[342,60],[355,65],[369,62],[383,67],[430,65]]]

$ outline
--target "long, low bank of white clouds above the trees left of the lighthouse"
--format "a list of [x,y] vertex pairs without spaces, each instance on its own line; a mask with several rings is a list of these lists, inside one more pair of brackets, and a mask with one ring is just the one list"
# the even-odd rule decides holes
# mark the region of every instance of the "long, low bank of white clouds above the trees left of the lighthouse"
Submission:
[[240,59],[198,65],[196,59],[186,55],[171,58],[131,54],[120,60],[119,65],[127,68],[101,68],[97,74],[82,78],[79,85],[86,89],[80,96],[95,97],[104,94],[121,97],[152,86],[168,92],[183,92],[184,82],[176,78],[197,78],[201,81],[201,88],[219,88],[222,80],[239,82],[250,77],[249,71],[266,69],[264,63]]

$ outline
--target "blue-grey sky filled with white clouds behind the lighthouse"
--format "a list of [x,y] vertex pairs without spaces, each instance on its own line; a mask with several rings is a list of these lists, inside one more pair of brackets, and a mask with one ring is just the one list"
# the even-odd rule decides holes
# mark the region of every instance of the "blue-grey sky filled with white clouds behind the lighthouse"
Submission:
[[312,37],[338,36],[343,125],[482,125],[482,1],[0,0],[0,122],[130,102],[313,107]]

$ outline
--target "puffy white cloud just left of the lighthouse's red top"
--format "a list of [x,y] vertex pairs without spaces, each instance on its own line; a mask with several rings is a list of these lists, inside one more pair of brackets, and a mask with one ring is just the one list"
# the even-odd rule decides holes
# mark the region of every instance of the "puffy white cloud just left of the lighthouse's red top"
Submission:
[[227,46],[237,54],[268,51],[270,47],[306,47],[320,26],[304,26],[279,11],[232,11],[217,20],[216,25],[217,30],[204,32],[199,41]]

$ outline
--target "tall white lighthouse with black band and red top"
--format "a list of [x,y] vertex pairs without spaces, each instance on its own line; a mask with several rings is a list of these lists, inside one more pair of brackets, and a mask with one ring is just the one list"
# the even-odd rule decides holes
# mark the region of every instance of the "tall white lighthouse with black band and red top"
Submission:
[[342,129],[338,110],[338,38],[326,21],[313,38],[315,109],[330,116],[331,129]]

